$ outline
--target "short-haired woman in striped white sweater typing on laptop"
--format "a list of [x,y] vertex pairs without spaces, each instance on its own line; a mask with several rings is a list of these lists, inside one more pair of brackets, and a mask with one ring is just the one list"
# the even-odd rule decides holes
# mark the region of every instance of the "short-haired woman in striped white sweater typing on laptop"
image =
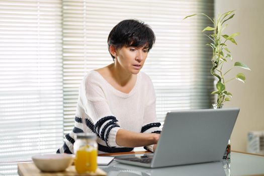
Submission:
[[155,42],[150,27],[124,20],[109,34],[108,50],[114,63],[87,73],[80,85],[75,124],[57,153],[73,153],[75,133],[98,136],[99,153],[126,152],[145,146],[154,151],[160,123],[155,92],[140,69]]

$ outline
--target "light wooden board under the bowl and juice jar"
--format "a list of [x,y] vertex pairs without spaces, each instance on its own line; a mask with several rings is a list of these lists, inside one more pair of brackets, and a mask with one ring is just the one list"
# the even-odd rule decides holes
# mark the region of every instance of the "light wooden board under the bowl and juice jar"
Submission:
[[18,163],[18,174],[20,176],[105,176],[107,173],[101,168],[97,168],[95,173],[77,173],[74,165],[69,166],[62,172],[42,172],[33,162]]

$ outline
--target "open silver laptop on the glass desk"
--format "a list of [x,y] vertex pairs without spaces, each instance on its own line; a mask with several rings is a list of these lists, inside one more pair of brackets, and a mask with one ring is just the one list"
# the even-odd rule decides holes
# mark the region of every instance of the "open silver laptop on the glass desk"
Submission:
[[115,160],[152,168],[221,161],[238,113],[239,108],[168,112],[154,154]]

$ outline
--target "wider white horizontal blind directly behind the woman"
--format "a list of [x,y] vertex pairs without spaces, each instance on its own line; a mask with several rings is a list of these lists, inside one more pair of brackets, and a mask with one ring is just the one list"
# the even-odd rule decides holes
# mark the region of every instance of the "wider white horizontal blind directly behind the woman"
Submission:
[[107,50],[111,29],[125,19],[150,25],[156,43],[143,67],[156,92],[160,121],[167,111],[209,108],[213,77],[210,48],[201,31],[210,21],[183,18],[193,13],[213,17],[213,1],[63,0],[64,132],[73,126],[79,83],[88,71],[112,62]]

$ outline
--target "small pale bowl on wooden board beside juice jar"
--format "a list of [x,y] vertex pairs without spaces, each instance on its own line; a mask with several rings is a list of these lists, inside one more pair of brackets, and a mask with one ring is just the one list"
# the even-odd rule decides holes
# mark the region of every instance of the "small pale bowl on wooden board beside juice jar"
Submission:
[[72,164],[73,157],[70,154],[41,154],[32,156],[34,164],[46,172],[63,171]]

